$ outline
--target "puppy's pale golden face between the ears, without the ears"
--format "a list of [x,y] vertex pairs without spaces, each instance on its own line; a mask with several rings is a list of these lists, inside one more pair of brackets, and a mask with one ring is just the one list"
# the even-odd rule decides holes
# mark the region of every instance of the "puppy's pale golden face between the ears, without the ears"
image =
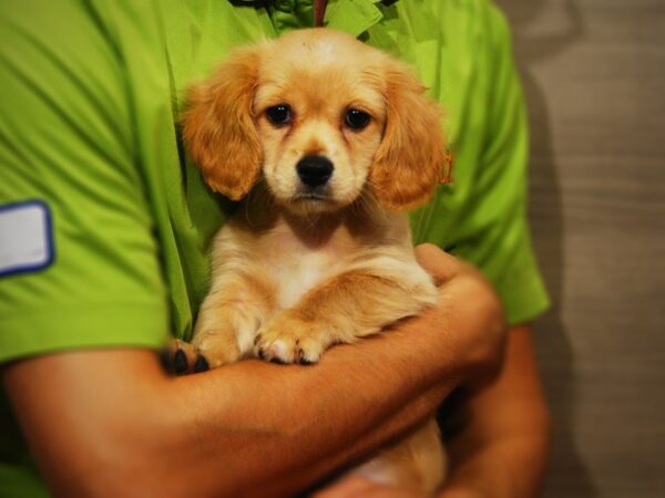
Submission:
[[366,51],[327,38],[264,62],[253,111],[263,174],[280,204],[335,210],[360,196],[386,124],[380,82]]

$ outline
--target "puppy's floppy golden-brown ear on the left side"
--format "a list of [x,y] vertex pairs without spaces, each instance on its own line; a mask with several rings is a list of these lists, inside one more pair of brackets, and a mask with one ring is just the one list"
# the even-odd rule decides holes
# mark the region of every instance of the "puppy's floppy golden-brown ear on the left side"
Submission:
[[256,49],[238,51],[187,95],[185,144],[209,187],[233,200],[252,189],[263,163],[252,113],[258,65]]

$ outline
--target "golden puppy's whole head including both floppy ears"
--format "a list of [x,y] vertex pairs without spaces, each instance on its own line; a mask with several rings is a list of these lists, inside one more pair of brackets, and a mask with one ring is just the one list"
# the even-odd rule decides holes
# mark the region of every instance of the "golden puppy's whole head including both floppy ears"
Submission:
[[232,55],[192,90],[183,131],[208,185],[232,199],[263,173],[294,212],[332,211],[364,190],[403,209],[444,173],[439,116],[402,63],[314,29]]

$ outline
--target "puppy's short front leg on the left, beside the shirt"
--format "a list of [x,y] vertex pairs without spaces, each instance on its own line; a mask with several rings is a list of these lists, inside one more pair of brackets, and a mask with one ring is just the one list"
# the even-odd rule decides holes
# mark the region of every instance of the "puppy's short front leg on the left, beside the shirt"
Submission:
[[192,345],[215,369],[252,352],[256,331],[274,308],[274,286],[259,271],[215,277],[201,307]]

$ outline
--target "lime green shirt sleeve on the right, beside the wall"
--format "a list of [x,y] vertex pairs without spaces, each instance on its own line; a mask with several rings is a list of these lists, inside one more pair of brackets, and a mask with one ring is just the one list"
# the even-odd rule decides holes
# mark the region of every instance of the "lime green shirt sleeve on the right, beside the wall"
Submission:
[[510,31],[495,7],[490,4],[485,12],[489,92],[484,135],[472,200],[458,220],[472,230],[453,241],[453,252],[483,271],[501,298],[509,324],[519,324],[544,312],[550,300],[529,231],[528,122]]

